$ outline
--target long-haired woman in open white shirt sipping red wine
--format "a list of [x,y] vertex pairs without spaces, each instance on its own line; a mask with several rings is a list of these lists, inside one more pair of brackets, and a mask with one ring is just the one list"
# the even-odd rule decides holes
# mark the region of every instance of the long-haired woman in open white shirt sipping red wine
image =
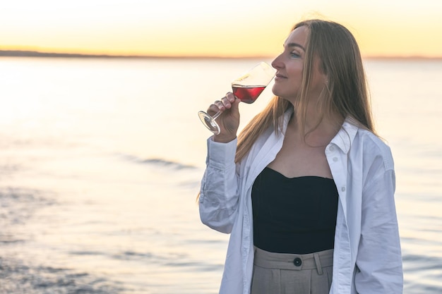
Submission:
[[220,293],[402,293],[393,158],[354,37],[306,20],[272,66],[275,98],[238,139],[239,100],[208,109],[224,111],[199,197],[231,234]]

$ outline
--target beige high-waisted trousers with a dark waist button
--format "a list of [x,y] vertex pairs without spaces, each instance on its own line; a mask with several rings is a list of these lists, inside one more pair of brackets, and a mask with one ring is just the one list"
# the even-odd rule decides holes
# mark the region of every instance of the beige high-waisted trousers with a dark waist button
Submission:
[[255,247],[251,294],[328,294],[332,273],[333,249],[294,255]]

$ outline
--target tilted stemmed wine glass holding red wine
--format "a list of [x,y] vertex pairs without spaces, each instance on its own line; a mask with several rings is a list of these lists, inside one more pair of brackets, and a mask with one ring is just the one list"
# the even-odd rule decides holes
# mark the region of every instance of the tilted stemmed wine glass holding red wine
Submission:
[[[268,63],[258,63],[250,71],[232,82],[233,94],[241,102],[251,104],[256,101],[273,77],[275,77],[275,70]],[[198,112],[198,116],[205,127],[215,135],[218,135],[221,131],[220,126],[215,121],[220,114],[222,114],[222,111],[218,111],[213,116],[209,116],[205,111]]]

